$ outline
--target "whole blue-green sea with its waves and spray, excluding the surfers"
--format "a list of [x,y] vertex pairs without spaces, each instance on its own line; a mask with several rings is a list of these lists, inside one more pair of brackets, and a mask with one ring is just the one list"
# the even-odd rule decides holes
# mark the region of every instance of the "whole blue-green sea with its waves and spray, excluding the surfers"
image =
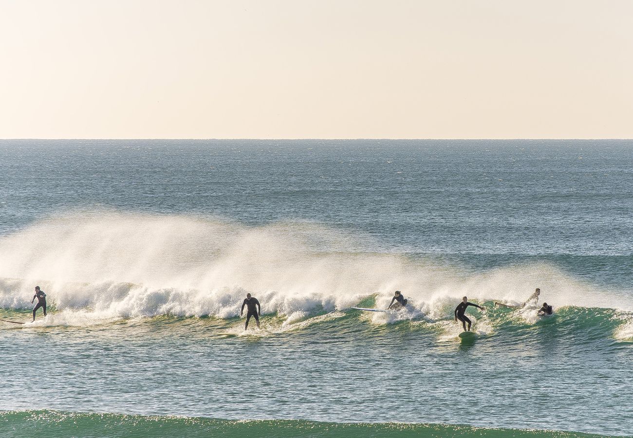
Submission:
[[633,141],[2,140],[0,436],[633,436],[632,285]]

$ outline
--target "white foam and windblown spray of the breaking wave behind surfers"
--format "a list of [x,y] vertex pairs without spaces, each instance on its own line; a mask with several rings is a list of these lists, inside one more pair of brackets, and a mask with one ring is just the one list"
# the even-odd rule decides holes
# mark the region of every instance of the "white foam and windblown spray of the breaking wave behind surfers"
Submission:
[[[0,306],[30,308],[42,286],[59,311],[103,318],[229,318],[251,292],[263,313],[333,311],[403,291],[414,315],[444,318],[454,303],[522,303],[535,287],[555,306],[632,308],[544,263],[468,272],[370,251],[364,236],[310,222],[248,227],[199,216],[92,211],[55,216],[0,238]],[[296,316],[295,316],[296,317]]]

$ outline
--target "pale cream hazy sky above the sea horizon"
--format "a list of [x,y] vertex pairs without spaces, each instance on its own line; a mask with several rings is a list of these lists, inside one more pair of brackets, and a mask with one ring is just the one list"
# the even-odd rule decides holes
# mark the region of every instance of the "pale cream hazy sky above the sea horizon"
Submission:
[[633,138],[632,0],[0,8],[0,138]]

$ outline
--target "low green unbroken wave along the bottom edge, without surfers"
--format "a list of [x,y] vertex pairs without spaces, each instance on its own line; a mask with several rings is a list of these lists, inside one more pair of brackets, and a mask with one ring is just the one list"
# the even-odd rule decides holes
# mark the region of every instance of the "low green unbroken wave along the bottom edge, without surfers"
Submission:
[[3,437],[41,435],[47,438],[82,437],[261,437],[261,438],[379,438],[379,437],[557,437],[580,438],[605,435],[548,430],[488,429],[469,426],[406,423],[320,423],[304,420],[231,421],[173,416],[14,411],[0,413]]

